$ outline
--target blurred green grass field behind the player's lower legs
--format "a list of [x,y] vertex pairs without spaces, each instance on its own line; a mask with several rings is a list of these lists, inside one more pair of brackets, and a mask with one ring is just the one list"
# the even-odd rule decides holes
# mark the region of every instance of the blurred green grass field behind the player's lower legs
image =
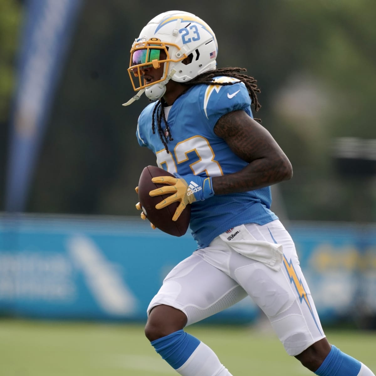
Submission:
[[[234,376],[312,374],[270,331],[194,325]],[[376,370],[376,333],[327,331],[329,341]],[[0,320],[2,376],[161,376],[177,373],[144,337],[143,325]]]

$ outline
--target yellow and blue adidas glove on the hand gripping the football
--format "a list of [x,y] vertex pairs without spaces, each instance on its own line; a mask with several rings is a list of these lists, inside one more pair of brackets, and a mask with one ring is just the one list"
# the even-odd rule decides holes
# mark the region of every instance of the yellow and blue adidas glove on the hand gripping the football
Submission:
[[153,183],[168,184],[161,188],[150,191],[150,196],[159,196],[161,194],[171,194],[167,199],[161,201],[155,207],[156,209],[162,209],[172,204],[173,202],[179,202],[176,208],[175,214],[172,217],[173,221],[179,218],[182,211],[188,204],[195,201],[203,201],[209,197],[214,196],[211,177],[201,177],[198,175],[184,175],[181,176],[174,173],[172,176],[159,176],[153,177]]

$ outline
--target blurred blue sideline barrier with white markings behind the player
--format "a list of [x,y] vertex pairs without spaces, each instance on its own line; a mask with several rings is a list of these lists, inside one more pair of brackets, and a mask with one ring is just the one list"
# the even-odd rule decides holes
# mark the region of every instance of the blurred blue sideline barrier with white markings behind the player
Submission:
[[[376,227],[291,223],[300,265],[323,323],[376,317]],[[164,276],[196,243],[139,217],[0,216],[0,315],[146,320]],[[208,318],[252,323],[247,297]]]

